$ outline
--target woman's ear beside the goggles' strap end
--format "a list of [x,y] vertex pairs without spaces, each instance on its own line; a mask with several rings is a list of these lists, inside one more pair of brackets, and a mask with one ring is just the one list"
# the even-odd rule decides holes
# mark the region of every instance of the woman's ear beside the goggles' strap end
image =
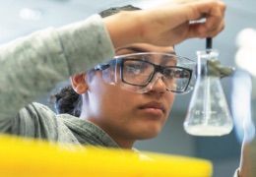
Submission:
[[72,88],[78,93],[83,94],[88,90],[86,74],[76,74],[70,77]]

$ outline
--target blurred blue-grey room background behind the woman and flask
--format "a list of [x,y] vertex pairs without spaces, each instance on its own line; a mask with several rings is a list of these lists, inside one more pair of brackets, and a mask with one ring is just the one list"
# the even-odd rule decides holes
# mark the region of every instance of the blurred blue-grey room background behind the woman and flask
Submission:
[[[214,48],[221,53],[221,62],[226,66],[236,67],[234,62],[237,50],[236,37],[242,29],[256,29],[256,1],[225,0],[224,2],[227,5],[225,29],[214,38],[213,44]],[[60,27],[85,20],[90,15],[109,7],[133,4],[141,8],[151,8],[160,3],[162,3],[160,0],[0,0],[0,44],[37,29]],[[196,51],[204,48],[205,40],[190,39],[177,45],[176,51],[181,56],[196,59]],[[238,76],[247,76],[239,69],[237,73],[240,74]],[[233,89],[234,83],[238,82],[235,78],[222,80],[229,106],[233,105],[232,98],[243,97],[242,91]],[[242,85],[246,88],[247,84]],[[177,95],[170,117],[160,136],[151,141],[138,142],[135,147],[142,150],[207,158],[214,163],[214,176],[232,176],[239,164],[240,141],[243,136],[241,121],[233,116],[236,127],[227,136],[214,138],[190,136],[183,129],[190,97],[191,93]],[[40,102],[48,103],[48,95],[40,99]],[[241,99],[238,102],[244,104]]]

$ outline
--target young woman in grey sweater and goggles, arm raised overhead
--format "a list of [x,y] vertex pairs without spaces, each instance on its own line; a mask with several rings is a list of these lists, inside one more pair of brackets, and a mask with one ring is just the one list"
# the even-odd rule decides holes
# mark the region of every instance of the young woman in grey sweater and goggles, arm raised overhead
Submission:
[[[157,136],[174,92],[186,91],[191,77],[190,61],[175,56],[172,46],[218,34],[224,9],[219,0],[202,0],[96,15],[2,46],[0,132],[115,148]],[[206,23],[190,23],[201,18]],[[71,75],[83,97],[80,119],[32,102]]]

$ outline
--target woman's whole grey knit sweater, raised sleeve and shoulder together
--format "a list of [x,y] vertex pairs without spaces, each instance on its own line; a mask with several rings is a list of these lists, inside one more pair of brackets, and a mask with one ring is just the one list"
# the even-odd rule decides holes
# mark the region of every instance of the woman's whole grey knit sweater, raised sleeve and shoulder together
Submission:
[[102,20],[61,29],[45,29],[0,48],[0,133],[51,142],[118,147],[96,125],[70,115],[56,115],[34,101],[67,80],[112,58],[113,46]]

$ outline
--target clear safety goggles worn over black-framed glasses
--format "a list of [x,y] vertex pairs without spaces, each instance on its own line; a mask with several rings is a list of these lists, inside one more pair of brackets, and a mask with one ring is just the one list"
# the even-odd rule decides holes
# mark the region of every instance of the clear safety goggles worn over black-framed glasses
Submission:
[[103,67],[102,78],[110,85],[143,93],[161,79],[169,91],[184,93],[192,86],[195,62],[169,53],[136,53],[117,56]]

